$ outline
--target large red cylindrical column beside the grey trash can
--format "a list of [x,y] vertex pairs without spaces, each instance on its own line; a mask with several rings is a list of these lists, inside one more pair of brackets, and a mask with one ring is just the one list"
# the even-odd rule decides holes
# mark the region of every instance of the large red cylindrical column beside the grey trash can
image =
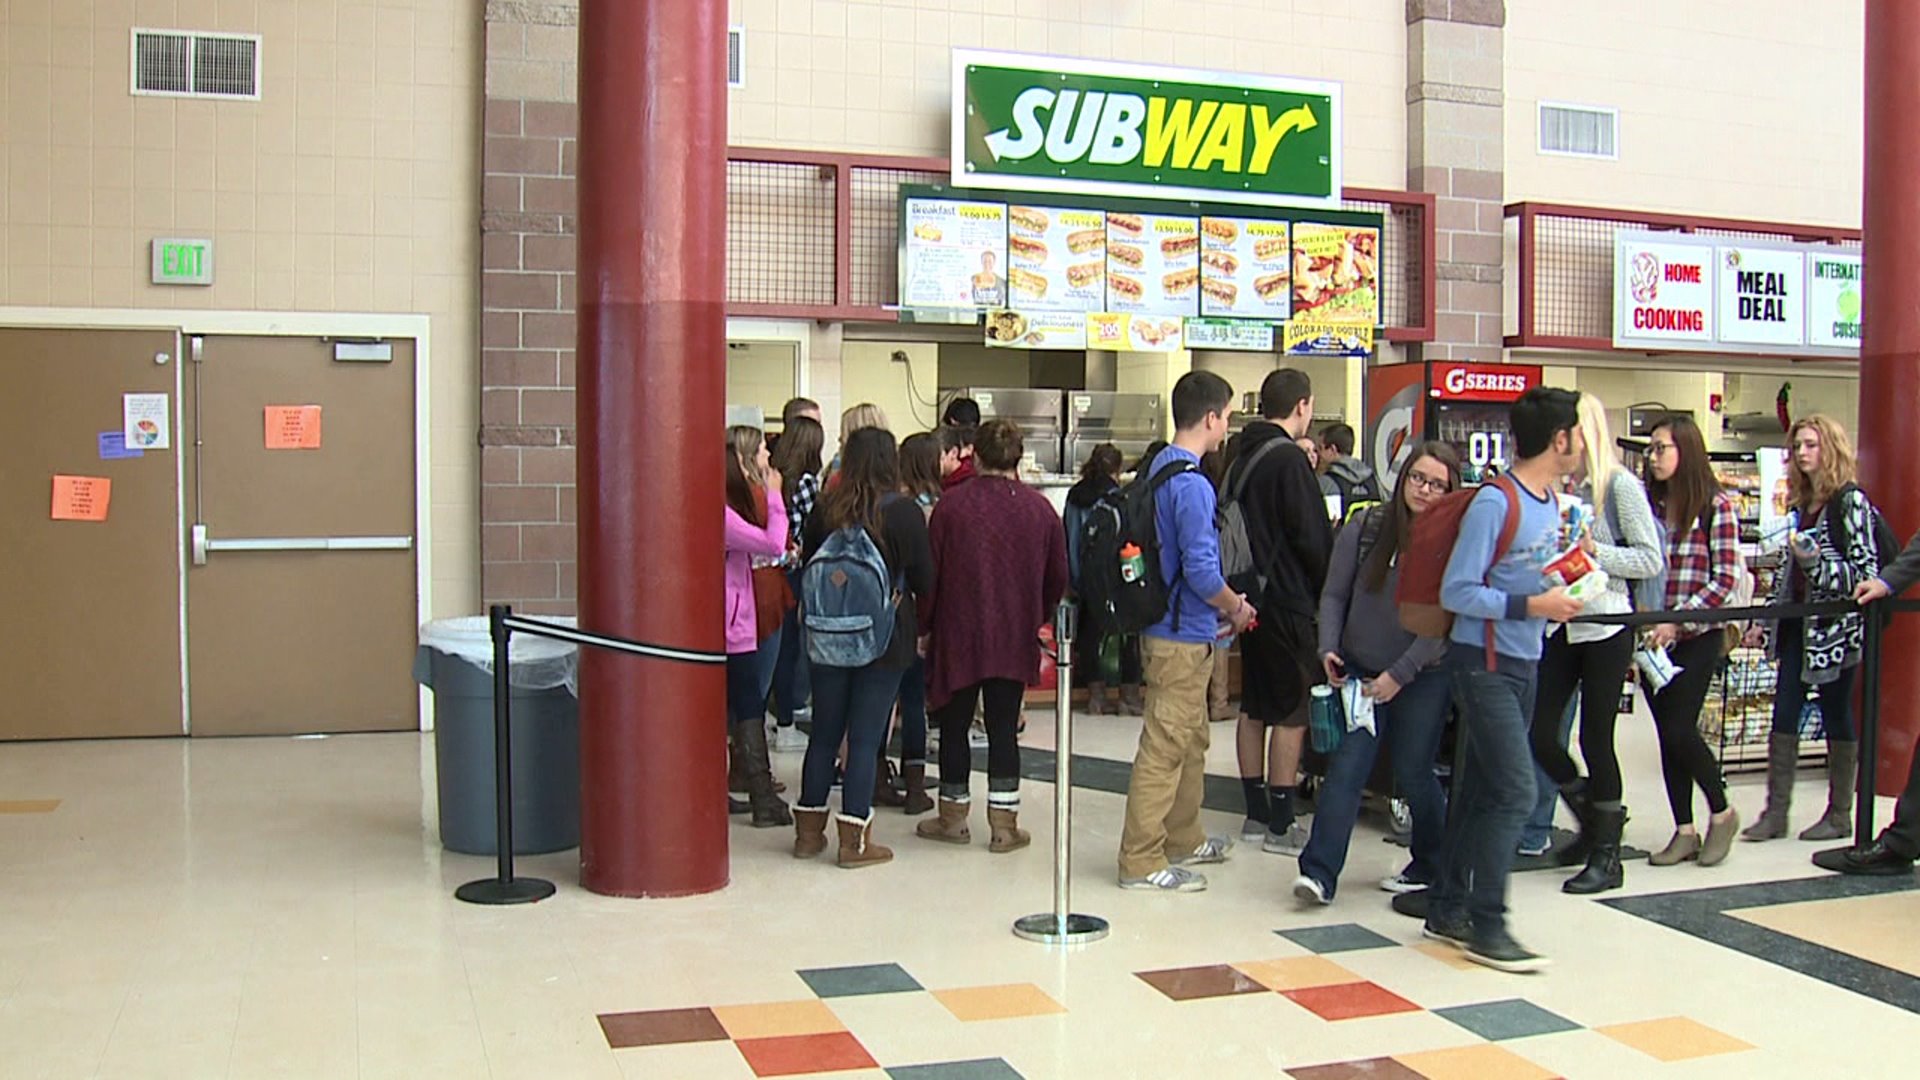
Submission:
[[[724,252],[726,2],[582,0],[586,628],[724,648]],[[580,884],[724,888],[724,673],[586,650],[580,709]]]

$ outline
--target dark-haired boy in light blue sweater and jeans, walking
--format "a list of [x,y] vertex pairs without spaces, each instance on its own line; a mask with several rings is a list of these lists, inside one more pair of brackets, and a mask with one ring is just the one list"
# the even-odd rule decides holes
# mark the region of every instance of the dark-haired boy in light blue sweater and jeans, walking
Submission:
[[1507,932],[1507,872],[1534,805],[1526,732],[1542,636],[1548,621],[1565,623],[1580,613],[1580,601],[1565,588],[1546,588],[1544,575],[1561,550],[1553,492],[1586,454],[1576,405],[1576,394],[1553,386],[1536,386],[1513,404],[1509,423],[1521,459],[1507,477],[1511,494],[1519,496],[1519,528],[1496,559],[1511,496],[1507,484],[1482,486],[1461,519],[1440,578],[1440,605],[1453,613],[1446,665],[1467,751],[1455,776],[1425,934],[1498,970],[1538,970],[1548,963]]

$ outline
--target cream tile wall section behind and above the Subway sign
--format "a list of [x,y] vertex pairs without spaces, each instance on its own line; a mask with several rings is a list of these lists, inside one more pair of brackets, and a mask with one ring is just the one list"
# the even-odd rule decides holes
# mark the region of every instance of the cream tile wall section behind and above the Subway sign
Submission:
[[737,144],[947,156],[960,46],[1336,79],[1346,183],[1407,181],[1404,0],[733,0],[732,17]]

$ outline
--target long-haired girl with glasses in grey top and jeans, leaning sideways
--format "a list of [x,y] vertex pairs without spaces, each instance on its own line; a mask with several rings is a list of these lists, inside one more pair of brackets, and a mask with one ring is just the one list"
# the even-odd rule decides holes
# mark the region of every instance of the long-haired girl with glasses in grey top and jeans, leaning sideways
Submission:
[[1400,469],[1394,498],[1361,511],[1334,540],[1321,592],[1321,665],[1332,686],[1361,680],[1361,692],[1373,700],[1375,730],[1346,732],[1327,763],[1313,836],[1294,880],[1294,897],[1306,903],[1332,903],[1380,740],[1392,753],[1394,786],[1413,811],[1413,861],[1380,888],[1419,892],[1440,872],[1446,792],[1434,776],[1434,757],[1453,701],[1448,673],[1438,667],[1446,640],[1404,630],[1394,588],[1413,519],[1457,486],[1459,455],[1444,442],[1427,442]]

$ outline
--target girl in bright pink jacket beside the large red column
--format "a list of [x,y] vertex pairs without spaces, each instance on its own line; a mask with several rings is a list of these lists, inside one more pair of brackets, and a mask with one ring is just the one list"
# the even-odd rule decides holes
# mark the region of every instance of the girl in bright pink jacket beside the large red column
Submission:
[[793,824],[774,790],[766,757],[766,688],[760,686],[755,632],[753,557],[787,552],[787,500],[768,469],[760,429],[730,427],[726,444],[726,688],[733,753],[747,776],[753,826]]

